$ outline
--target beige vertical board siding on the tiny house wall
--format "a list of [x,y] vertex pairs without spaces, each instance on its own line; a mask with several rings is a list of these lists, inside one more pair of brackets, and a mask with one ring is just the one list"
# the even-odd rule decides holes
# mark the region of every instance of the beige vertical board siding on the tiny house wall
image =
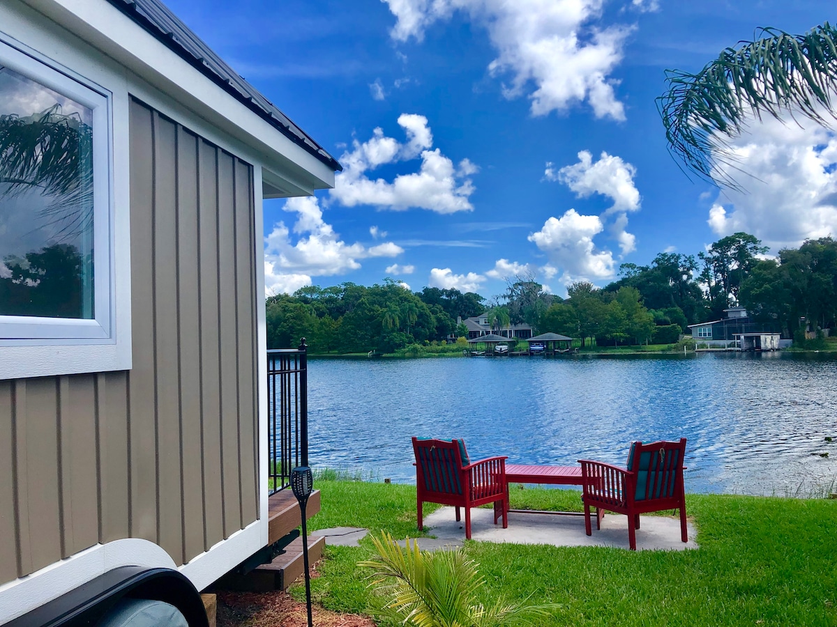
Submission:
[[133,368],[0,381],[0,584],[119,538],[185,563],[258,517],[253,191],[131,103]]

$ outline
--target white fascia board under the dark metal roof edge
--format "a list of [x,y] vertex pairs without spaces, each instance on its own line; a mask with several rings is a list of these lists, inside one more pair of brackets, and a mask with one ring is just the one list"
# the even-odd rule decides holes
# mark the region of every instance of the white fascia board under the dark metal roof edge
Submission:
[[[104,0],[23,0],[99,48],[210,124],[251,146],[290,189],[334,186],[334,171],[249,110],[186,60]],[[281,173],[281,174],[279,174]],[[310,191],[308,191],[310,190]]]

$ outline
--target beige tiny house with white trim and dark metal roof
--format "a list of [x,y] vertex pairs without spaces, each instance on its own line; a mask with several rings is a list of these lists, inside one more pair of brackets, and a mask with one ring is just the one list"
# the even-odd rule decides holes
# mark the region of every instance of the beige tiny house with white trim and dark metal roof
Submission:
[[0,624],[272,541],[262,203],[339,169],[158,0],[0,3]]

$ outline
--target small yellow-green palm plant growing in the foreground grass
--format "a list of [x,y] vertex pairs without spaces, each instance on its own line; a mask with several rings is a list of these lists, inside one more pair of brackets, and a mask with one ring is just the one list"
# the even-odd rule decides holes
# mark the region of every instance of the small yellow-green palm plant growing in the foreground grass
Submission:
[[493,627],[537,624],[552,614],[557,604],[496,604],[485,607],[477,592],[485,584],[476,563],[460,549],[420,551],[407,540],[398,546],[388,533],[372,536],[377,555],[359,566],[372,568],[373,586],[383,599],[379,618],[393,619],[407,627]]

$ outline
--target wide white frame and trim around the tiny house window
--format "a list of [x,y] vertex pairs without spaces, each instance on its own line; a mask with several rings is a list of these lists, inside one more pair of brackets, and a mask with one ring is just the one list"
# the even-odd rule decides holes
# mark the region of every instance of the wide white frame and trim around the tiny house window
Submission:
[[[100,57],[49,33],[26,28],[22,33],[25,43],[0,30],[0,64],[93,111],[95,318],[0,316],[0,380],[130,370],[126,77]],[[40,52],[47,49],[49,56]]]

